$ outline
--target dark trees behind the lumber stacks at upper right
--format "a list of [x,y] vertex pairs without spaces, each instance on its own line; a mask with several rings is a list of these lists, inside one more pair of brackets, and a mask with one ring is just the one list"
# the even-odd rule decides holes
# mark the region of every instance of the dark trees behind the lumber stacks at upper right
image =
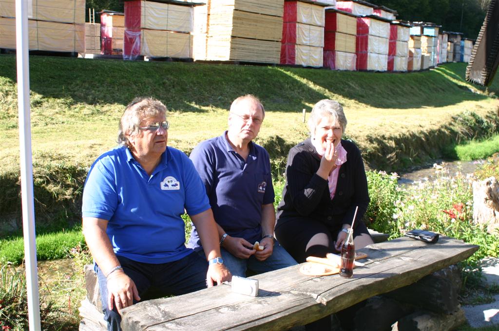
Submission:
[[397,18],[432,22],[444,31],[463,32],[476,39],[491,0],[371,0],[398,11]]

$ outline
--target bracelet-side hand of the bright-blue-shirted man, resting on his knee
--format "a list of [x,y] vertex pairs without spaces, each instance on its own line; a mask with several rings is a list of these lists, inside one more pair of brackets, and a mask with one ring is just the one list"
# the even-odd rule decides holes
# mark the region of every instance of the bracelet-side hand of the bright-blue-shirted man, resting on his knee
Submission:
[[121,311],[123,308],[133,305],[133,299],[140,301],[139,291],[133,280],[128,277],[123,270],[113,272],[107,278],[107,303],[109,310],[116,309]]

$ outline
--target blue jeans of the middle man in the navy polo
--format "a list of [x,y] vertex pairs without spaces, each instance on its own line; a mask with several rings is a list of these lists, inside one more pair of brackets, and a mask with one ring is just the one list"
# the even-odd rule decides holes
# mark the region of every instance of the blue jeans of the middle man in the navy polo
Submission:
[[248,269],[256,274],[261,274],[268,271],[294,266],[296,264],[296,261],[281,245],[279,245],[278,242],[274,245],[272,255],[264,261],[258,261],[254,255],[251,255],[249,259],[240,259],[222,247],[220,250],[222,258],[224,259],[224,264],[227,268],[229,268],[234,276],[246,277],[246,271]]

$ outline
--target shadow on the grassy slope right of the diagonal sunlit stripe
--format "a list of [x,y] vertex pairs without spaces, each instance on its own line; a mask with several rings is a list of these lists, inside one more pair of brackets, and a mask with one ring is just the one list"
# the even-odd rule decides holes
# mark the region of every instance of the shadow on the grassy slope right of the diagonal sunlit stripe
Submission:
[[[444,107],[463,101],[481,101],[488,98],[483,94],[473,93],[464,80],[463,63],[451,66],[443,65],[435,70],[411,73],[355,72],[303,70],[286,68],[288,71],[311,84],[330,91],[344,99],[353,99],[376,108],[421,108]],[[460,84],[441,74],[446,70]],[[459,72],[458,72],[459,71]],[[461,71],[463,71],[462,76]]]

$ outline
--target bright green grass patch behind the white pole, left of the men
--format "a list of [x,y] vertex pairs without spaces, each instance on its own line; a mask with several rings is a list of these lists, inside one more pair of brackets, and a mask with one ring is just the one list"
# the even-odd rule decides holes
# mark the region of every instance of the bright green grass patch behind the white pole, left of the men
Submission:
[[[53,260],[66,258],[69,251],[84,243],[81,229],[57,231],[36,236],[36,259]],[[0,241],[0,264],[19,264],[24,259],[24,240],[21,237]]]

